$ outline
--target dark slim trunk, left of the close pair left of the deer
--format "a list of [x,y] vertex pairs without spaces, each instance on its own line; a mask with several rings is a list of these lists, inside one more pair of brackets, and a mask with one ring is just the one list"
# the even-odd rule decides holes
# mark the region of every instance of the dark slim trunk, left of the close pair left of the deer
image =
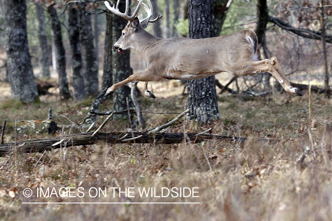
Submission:
[[73,67],[74,99],[77,100],[85,96],[85,85],[82,75],[82,53],[79,38],[80,32],[78,25],[78,11],[73,7],[73,3],[69,4],[68,10],[68,37]]

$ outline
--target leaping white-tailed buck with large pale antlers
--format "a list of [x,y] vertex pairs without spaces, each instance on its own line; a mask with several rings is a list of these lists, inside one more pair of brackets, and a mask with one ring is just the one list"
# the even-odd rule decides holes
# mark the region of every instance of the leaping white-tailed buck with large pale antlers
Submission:
[[[121,13],[116,7],[105,1],[106,7],[114,14],[128,20],[122,30],[122,35],[114,44],[114,48],[122,53],[132,48],[137,51],[147,63],[145,71],[135,73],[122,82],[116,83],[107,89],[105,96],[113,93],[120,86],[132,81],[142,81],[142,93],[147,97],[155,96],[147,90],[147,82],[161,79],[199,79],[220,72],[229,72],[234,76],[255,75],[269,72],[283,86],[285,91],[293,95],[302,96],[302,92],[290,86],[277,58],[262,60],[255,32],[245,29],[236,33],[203,39],[175,37],[163,39],[144,30],[148,23],[161,19],[159,16],[150,20],[152,6],[143,0],[133,0],[138,5],[132,14],[128,15],[129,3],[126,0],[126,9]],[[147,17],[139,20],[136,15],[140,7],[147,12]]]

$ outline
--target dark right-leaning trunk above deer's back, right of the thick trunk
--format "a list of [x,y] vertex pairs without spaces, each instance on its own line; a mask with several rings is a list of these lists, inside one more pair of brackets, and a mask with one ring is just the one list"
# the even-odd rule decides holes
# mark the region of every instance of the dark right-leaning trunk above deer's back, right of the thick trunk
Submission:
[[226,13],[232,0],[213,0],[213,36],[220,35],[222,25],[226,19]]

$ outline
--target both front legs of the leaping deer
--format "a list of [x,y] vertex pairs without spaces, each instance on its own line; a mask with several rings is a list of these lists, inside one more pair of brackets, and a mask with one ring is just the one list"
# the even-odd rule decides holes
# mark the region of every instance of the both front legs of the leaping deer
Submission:
[[[130,75],[129,78],[123,80],[122,82],[113,84],[111,87],[109,87],[105,93],[105,97],[114,93],[119,87],[123,86],[126,83],[132,82],[132,81],[143,81],[146,82],[146,90],[147,90],[147,82],[148,81],[160,81],[161,78],[153,75],[153,73],[144,71],[140,73],[135,73],[133,75]],[[144,85],[145,86],[145,85]],[[150,92],[150,91],[149,91]],[[150,92],[151,93],[151,92]],[[144,93],[143,93],[144,94]],[[152,93],[151,93],[152,94]],[[145,95],[145,94],[144,94]],[[152,94],[153,95],[153,94]],[[146,96],[146,95],[145,95]],[[154,95],[153,95],[154,96]],[[151,96],[152,97],[152,96]],[[154,97],[155,98],[155,97]]]

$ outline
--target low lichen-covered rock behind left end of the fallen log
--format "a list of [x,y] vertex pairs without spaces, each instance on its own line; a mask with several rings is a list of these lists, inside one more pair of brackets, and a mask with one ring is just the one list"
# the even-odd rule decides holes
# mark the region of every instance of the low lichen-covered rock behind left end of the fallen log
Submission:
[[53,120],[23,120],[16,127],[18,135],[54,134],[56,131],[57,126]]

